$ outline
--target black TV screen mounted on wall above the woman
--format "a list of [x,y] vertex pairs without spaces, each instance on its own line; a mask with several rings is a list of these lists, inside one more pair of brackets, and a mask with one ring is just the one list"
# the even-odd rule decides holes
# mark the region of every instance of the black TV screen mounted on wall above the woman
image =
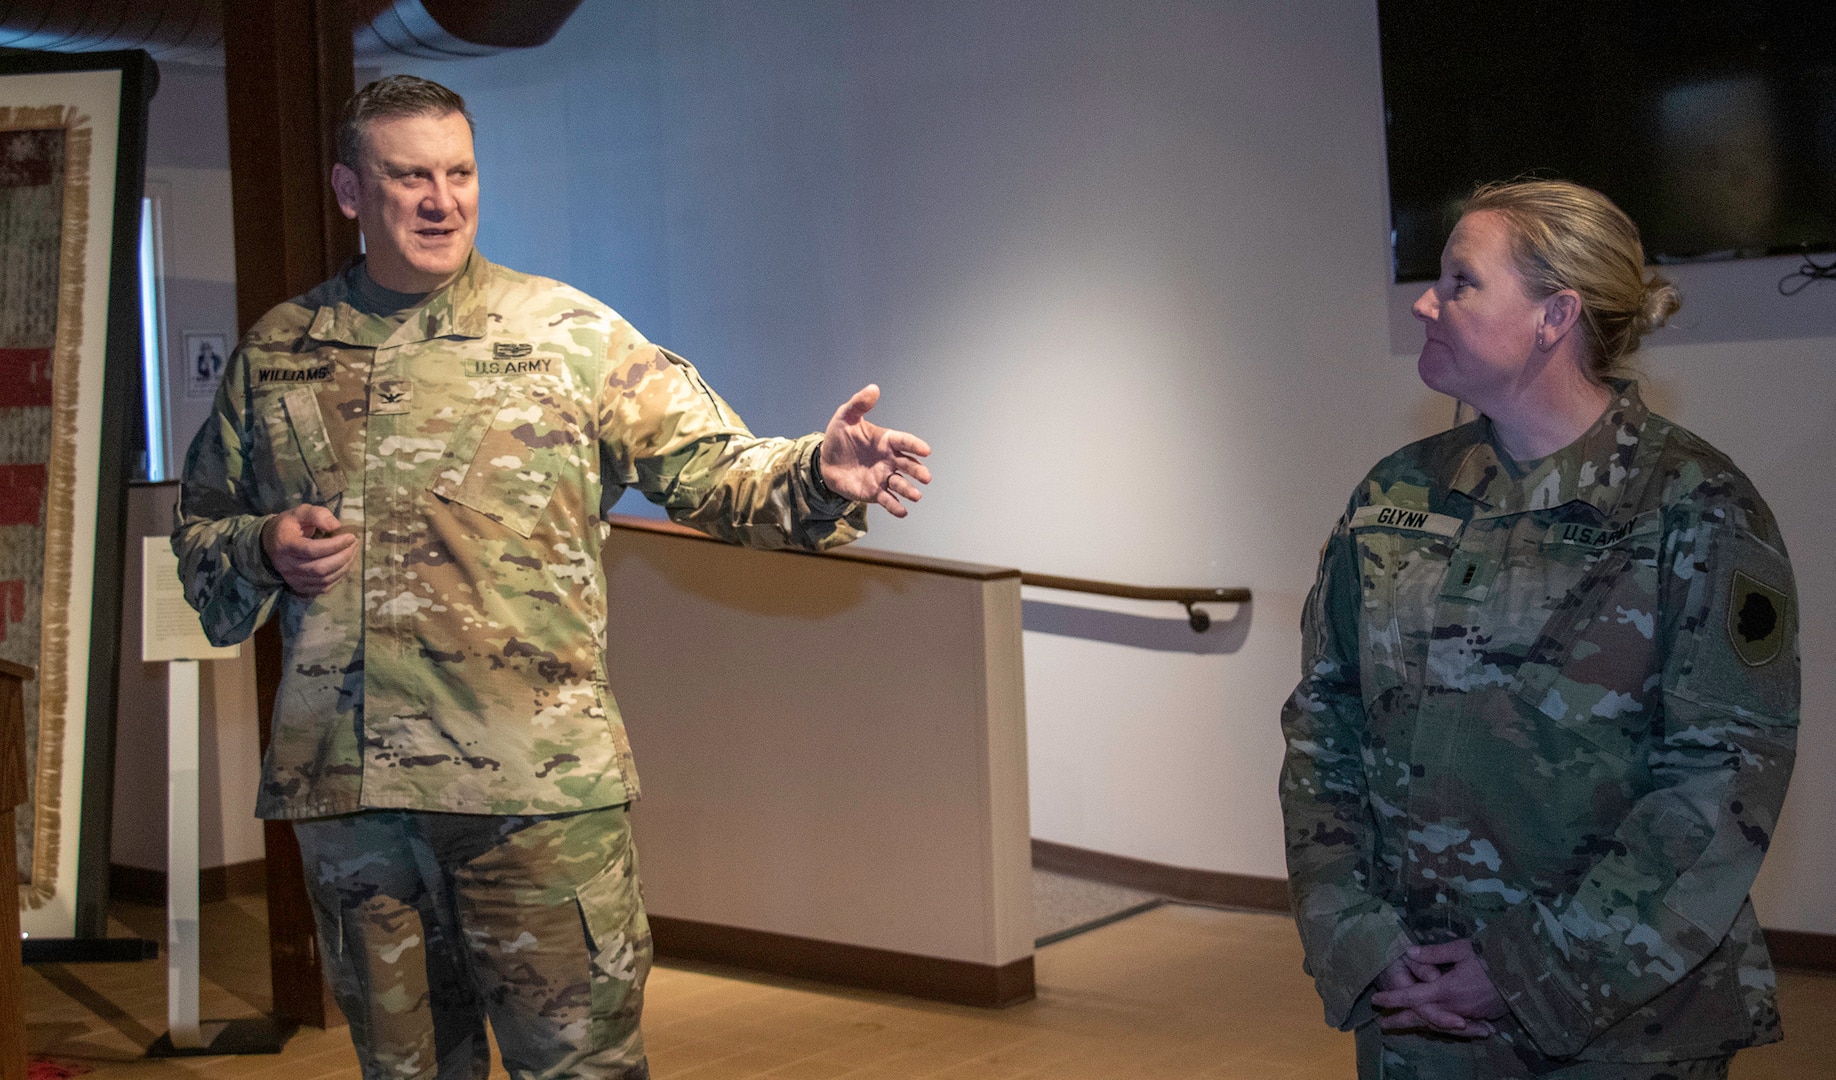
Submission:
[[1379,0],[1395,279],[1476,184],[1605,191],[1654,263],[1836,250],[1836,0]]

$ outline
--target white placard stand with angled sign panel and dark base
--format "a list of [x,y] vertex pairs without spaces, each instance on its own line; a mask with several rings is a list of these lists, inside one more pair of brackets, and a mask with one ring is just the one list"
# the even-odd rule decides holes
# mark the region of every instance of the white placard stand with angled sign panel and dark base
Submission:
[[165,1021],[149,1058],[277,1054],[285,1032],[266,1018],[198,1019],[198,661],[235,659],[241,645],[204,637],[185,602],[165,536],[141,538],[140,658],[165,661]]

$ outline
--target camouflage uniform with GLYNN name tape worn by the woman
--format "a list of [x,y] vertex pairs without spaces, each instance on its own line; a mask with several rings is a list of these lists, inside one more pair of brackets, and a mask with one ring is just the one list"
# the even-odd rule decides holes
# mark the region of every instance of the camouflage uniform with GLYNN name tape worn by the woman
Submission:
[[[1294,913],[1366,1076],[1717,1076],[1779,1038],[1748,887],[1797,727],[1772,512],[1630,382],[1518,467],[1390,456],[1327,540],[1282,724]],[[1502,999],[1383,1030],[1478,957]],[[1414,977],[1381,983],[1406,961]]]

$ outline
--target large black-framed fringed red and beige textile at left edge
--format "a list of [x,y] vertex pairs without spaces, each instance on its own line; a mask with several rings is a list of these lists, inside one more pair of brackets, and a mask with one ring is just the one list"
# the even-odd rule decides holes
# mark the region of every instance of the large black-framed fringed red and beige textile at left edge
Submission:
[[0,57],[0,658],[26,683],[20,926],[103,937],[147,53]]

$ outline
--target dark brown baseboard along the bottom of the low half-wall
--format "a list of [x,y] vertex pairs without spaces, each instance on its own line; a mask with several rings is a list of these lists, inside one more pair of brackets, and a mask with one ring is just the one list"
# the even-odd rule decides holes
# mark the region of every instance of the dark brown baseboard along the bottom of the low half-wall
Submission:
[[1001,966],[971,964],[666,915],[650,917],[650,937],[665,959],[733,964],[953,1005],[1002,1008],[1034,997],[1032,957]]

